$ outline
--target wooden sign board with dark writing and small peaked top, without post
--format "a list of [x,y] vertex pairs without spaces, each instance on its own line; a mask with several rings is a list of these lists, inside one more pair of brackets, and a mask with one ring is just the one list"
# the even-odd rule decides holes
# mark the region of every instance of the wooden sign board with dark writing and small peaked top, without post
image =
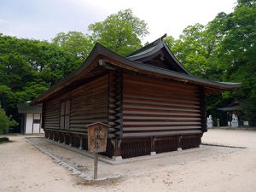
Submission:
[[105,152],[107,148],[108,125],[100,122],[87,125],[88,151],[94,153]]

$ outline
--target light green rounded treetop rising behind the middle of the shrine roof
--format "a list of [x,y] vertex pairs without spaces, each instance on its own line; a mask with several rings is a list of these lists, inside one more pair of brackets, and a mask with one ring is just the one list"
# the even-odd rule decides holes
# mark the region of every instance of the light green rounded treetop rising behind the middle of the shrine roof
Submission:
[[148,34],[146,22],[134,16],[131,9],[119,11],[102,22],[90,24],[89,30],[94,42],[99,42],[120,55],[128,55],[141,48],[141,38]]

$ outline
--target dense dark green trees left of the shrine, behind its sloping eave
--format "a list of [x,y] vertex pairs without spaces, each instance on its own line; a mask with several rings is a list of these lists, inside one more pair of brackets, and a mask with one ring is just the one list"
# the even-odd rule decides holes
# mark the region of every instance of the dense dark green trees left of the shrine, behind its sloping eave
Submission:
[[0,35],[0,102],[16,116],[27,102],[79,67],[79,58],[55,44]]

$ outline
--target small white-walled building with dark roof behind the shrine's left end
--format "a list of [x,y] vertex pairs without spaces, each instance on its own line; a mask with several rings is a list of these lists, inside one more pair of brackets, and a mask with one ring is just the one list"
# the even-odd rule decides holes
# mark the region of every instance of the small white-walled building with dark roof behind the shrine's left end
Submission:
[[40,134],[44,133],[41,128],[42,107],[29,106],[27,103],[17,105],[18,113],[22,114],[21,133]]

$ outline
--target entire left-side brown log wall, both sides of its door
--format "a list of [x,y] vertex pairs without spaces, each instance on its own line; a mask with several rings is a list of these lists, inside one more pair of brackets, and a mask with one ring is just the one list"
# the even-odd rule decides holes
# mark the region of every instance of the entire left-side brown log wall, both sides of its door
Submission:
[[108,123],[108,75],[44,102],[44,129],[60,129],[61,101],[67,100],[70,101],[69,131],[87,132],[86,125],[90,123]]

